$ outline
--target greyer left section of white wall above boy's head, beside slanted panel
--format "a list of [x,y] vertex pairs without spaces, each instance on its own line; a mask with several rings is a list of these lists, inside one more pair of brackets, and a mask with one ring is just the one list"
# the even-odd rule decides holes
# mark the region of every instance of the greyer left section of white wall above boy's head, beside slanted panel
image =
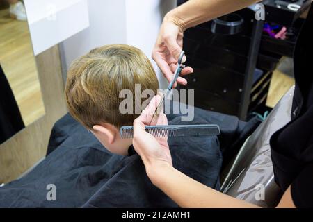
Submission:
[[61,43],[64,69],[98,46],[127,43],[125,0],[88,0],[88,12],[89,27]]

